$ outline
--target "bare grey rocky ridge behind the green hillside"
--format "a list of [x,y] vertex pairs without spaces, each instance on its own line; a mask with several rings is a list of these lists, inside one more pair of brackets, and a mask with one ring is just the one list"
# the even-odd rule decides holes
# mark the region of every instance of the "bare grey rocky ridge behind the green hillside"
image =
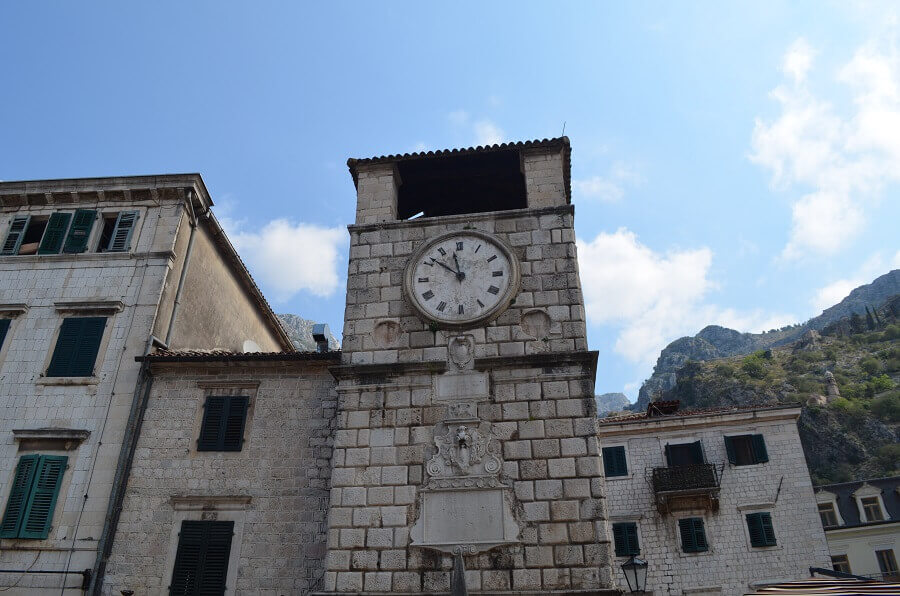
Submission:
[[821,331],[830,323],[849,317],[853,313],[863,314],[865,307],[882,304],[891,296],[900,294],[900,269],[882,275],[870,284],[860,286],[850,292],[838,304],[826,309],[802,325],[792,325],[764,333],[741,333],[733,329],[710,325],[694,337],[676,339],[662,352],[653,367],[653,374],[644,381],[633,409],[642,411],[654,396],[675,385],[675,375],[688,361],[707,361],[749,354],[788,344],[810,329]]

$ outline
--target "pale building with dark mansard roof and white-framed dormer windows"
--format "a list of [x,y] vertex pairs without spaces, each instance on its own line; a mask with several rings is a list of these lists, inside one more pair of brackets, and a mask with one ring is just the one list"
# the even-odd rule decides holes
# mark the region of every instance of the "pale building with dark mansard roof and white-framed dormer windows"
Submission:
[[900,476],[816,487],[835,571],[900,581]]

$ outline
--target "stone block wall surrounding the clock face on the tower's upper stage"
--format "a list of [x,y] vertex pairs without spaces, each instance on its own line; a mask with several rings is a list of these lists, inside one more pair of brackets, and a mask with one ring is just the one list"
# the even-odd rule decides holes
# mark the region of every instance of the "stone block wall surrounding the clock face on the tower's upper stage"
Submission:
[[521,291],[511,307],[487,326],[467,332],[475,338],[475,356],[586,350],[573,217],[573,207],[565,205],[350,226],[344,362],[446,362],[452,335],[430,329],[414,314],[403,295],[403,275],[422,242],[465,229],[505,241],[522,272]]

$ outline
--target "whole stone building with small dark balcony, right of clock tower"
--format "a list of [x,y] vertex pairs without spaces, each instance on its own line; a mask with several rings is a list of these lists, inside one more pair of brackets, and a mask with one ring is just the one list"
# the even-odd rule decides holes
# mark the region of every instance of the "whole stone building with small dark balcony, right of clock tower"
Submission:
[[614,564],[646,560],[653,594],[743,594],[829,567],[799,406],[677,407],[600,421]]

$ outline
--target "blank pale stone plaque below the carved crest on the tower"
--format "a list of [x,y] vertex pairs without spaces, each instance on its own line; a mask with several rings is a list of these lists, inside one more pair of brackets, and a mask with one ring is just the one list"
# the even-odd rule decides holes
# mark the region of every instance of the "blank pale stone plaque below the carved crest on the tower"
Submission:
[[519,526],[503,493],[501,488],[423,493],[413,545],[475,553],[515,542]]

